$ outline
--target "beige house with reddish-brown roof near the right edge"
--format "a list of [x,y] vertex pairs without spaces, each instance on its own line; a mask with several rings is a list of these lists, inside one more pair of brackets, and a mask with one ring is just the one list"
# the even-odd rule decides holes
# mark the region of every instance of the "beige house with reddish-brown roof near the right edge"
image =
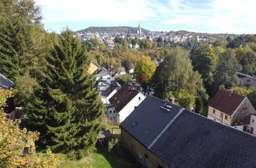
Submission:
[[218,90],[209,103],[207,117],[238,128],[250,124],[246,123],[246,118],[251,114],[256,114],[256,111],[248,98],[235,94],[233,90]]

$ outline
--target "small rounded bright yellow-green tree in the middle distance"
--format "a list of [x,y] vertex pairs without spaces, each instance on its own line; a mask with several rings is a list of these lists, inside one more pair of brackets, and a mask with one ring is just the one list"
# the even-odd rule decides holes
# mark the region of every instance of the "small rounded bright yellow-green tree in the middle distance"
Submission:
[[149,82],[154,74],[156,66],[149,57],[142,56],[135,66],[134,74],[138,82],[141,82],[142,76],[146,77],[146,82]]

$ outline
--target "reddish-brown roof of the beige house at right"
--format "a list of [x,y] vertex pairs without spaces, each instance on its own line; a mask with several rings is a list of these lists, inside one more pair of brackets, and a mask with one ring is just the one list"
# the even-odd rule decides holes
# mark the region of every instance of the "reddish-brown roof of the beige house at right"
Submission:
[[214,98],[211,99],[209,106],[232,115],[244,98],[242,95],[232,93],[231,90],[218,90]]

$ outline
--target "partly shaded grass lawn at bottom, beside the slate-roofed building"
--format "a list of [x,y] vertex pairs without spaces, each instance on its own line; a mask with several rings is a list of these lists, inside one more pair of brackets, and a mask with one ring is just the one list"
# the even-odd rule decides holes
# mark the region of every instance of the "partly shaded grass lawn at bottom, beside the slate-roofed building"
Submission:
[[108,154],[106,149],[98,150],[90,156],[80,160],[70,160],[68,158],[62,162],[59,168],[139,168],[138,162],[122,148],[117,146],[114,152]]

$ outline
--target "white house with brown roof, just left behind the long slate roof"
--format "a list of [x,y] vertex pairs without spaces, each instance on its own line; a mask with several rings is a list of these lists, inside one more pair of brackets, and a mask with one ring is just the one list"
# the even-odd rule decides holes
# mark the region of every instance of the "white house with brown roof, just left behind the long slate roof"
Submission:
[[115,113],[108,115],[115,122],[122,122],[128,117],[146,96],[138,90],[131,90],[129,87],[122,87],[116,94],[110,98],[110,104],[115,105]]

